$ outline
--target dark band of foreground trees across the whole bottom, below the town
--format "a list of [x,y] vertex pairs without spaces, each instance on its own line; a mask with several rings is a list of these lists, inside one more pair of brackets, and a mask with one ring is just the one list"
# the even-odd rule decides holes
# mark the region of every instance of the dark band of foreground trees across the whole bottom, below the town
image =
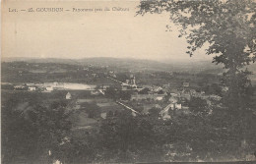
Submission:
[[[15,96],[14,96],[15,97]],[[67,104],[10,98],[2,106],[3,163],[93,163],[242,160],[256,149],[255,114],[208,108],[194,99],[191,114],[108,114],[93,129],[73,130]]]

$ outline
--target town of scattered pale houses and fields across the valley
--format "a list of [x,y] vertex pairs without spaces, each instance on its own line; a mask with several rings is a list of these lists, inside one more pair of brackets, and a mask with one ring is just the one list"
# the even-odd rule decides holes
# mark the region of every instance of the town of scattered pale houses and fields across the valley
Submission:
[[[62,82],[55,82],[55,76],[52,80],[47,80],[47,82],[42,82],[39,78],[37,82],[24,82],[22,77],[30,76],[30,74],[32,77],[37,74],[42,74],[42,77],[44,77],[44,74],[46,76],[49,76],[47,74],[57,74],[58,76],[67,74],[69,76],[65,71],[67,66],[59,65],[56,69],[57,71],[53,70],[52,73],[49,73],[40,68],[45,67],[45,64],[17,62],[4,63],[3,66],[5,65],[8,68],[3,68],[4,71],[5,69],[12,69],[13,72],[16,72],[14,74],[19,75],[18,79],[20,77],[21,79],[20,82],[19,80],[15,82],[2,82],[2,88],[8,88],[7,90],[14,92],[29,91],[46,95],[61,92],[61,98],[76,104],[74,108],[77,110],[84,108],[83,104],[85,102],[96,103],[101,110],[100,117],[102,119],[105,119],[109,112],[112,113],[121,108],[123,110],[131,110],[133,115],[147,115],[149,110],[157,108],[160,111],[161,119],[171,119],[170,111],[177,110],[179,111],[178,113],[189,113],[188,102],[192,97],[206,100],[209,106],[214,105],[216,101],[221,100],[221,96],[217,95],[218,89],[224,89],[220,83],[210,83],[211,85],[203,83],[201,84],[203,86],[200,87],[195,84],[195,80],[194,82],[192,80],[194,83],[192,85],[188,81],[182,81],[182,78],[191,75],[182,76],[182,74],[171,72],[145,74],[142,72],[120,72],[106,69],[107,66],[83,68],[81,66],[68,66],[74,67],[71,70],[73,75],[81,75],[81,79],[84,78],[89,84],[86,82],[71,82],[70,79],[72,78],[67,78],[67,82],[63,82],[65,78],[62,79]],[[20,66],[17,67],[17,65]],[[28,71],[27,67],[35,68],[36,70]],[[140,75],[142,75],[142,78]],[[174,79],[175,75],[178,81]],[[192,76],[195,77],[195,75]],[[219,82],[216,76],[208,76],[214,79],[213,81]],[[10,74],[8,77],[10,77]],[[158,83],[149,81],[150,79],[153,80],[153,78],[156,80],[156,77],[159,80]],[[167,82],[166,79],[172,80]],[[200,81],[197,83],[200,84]],[[117,109],[115,109],[116,106],[118,106]],[[105,110],[107,108],[111,110]]]

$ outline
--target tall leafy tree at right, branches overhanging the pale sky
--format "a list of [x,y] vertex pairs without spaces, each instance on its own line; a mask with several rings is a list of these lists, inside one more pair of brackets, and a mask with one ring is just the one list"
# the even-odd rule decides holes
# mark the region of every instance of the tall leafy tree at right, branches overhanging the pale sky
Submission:
[[[170,20],[185,36],[187,53],[207,43],[206,54],[216,55],[213,63],[224,64],[224,85],[230,108],[244,105],[243,90],[250,72],[243,67],[256,60],[256,3],[253,0],[146,0],[141,1],[140,15],[167,12]],[[243,83],[239,78],[243,77]]]

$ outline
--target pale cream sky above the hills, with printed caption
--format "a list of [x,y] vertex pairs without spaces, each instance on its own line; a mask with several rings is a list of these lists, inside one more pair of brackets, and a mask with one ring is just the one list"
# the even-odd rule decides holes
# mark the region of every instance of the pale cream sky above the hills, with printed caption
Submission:
[[[3,2],[2,57],[117,57],[159,61],[211,60],[204,49],[190,58],[185,38],[168,14],[136,16],[139,1],[15,1]],[[37,8],[69,12],[36,12]],[[110,11],[95,9],[104,8]],[[112,11],[112,8],[129,11]],[[24,12],[33,8],[35,12]],[[93,9],[93,12],[73,12]],[[18,12],[10,12],[17,9]],[[171,31],[166,31],[166,25]]]

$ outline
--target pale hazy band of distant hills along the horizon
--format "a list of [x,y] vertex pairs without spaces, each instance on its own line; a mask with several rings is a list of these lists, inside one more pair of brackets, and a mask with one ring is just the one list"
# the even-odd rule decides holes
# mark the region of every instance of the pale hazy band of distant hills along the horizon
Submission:
[[[192,74],[219,74],[223,66],[213,64],[211,61],[190,61],[183,62],[159,62],[153,60],[132,59],[132,58],[83,58],[83,59],[58,59],[58,58],[5,58],[2,62],[24,61],[29,63],[61,63],[70,65],[94,65],[120,68],[130,71],[166,71],[166,72],[187,72]],[[256,74],[256,64],[248,66],[248,69]]]

